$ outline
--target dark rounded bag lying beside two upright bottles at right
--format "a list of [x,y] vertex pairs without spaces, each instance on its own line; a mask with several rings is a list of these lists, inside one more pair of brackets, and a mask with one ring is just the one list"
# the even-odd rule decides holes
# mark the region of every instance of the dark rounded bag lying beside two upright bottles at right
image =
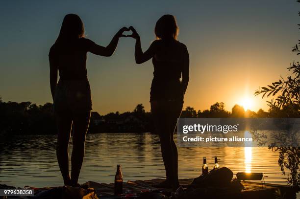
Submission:
[[227,167],[214,169],[208,172],[208,174],[202,174],[200,177],[194,178],[192,185],[194,186],[226,186],[233,177],[233,173]]

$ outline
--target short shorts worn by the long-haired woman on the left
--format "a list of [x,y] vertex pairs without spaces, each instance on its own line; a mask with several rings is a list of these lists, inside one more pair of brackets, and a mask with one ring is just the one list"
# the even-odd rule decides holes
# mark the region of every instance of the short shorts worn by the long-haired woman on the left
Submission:
[[88,80],[59,80],[55,88],[54,113],[76,115],[92,110]]

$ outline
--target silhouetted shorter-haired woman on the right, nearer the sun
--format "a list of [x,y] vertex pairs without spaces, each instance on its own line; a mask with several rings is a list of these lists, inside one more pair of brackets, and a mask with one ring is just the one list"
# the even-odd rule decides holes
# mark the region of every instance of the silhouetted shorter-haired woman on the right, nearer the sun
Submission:
[[154,32],[157,40],[144,53],[140,36],[132,26],[129,29],[132,30],[130,37],[136,39],[136,63],[142,64],[152,58],[154,66],[150,91],[151,112],[159,133],[166,169],[166,180],[157,186],[176,189],[179,186],[178,154],[173,134],[189,82],[189,54],[186,46],[176,40],[178,27],[173,15],[164,15],[156,22]]

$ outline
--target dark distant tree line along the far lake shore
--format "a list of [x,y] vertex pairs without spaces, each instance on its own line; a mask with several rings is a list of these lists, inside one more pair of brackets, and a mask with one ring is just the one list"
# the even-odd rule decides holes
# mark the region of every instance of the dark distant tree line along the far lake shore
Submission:
[[[181,117],[285,117],[289,109],[272,109],[265,112],[247,110],[235,105],[231,112],[224,109],[223,102],[210,106],[210,110],[196,111],[186,107]],[[0,98],[0,135],[2,134],[56,134],[55,118],[51,103],[36,105],[31,102],[3,102]],[[289,115],[291,116],[291,115]],[[295,116],[295,115],[293,115]],[[154,132],[151,113],[138,104],[131,112],[110,112],[100,115],[92,112],[90,133]]]

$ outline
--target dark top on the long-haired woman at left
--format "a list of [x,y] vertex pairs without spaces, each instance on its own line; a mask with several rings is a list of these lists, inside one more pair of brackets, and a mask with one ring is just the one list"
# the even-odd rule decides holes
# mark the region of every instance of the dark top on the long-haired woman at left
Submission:
[[78,38],[51,46],[49,59],[58,67],[60,80],[87,80],[86,53],[95,44]]

